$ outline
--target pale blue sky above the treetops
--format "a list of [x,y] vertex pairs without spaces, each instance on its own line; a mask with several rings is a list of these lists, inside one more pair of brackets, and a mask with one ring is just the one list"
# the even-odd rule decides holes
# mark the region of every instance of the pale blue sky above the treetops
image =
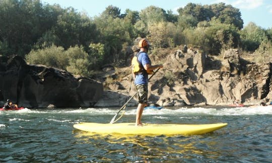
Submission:
[[156,6],[165,11],[172,10],[174,14],[177,14],[177,9],[183,8],[188,3],[211,5],[222,2],[240,10],[244,27],[249,22],[253,22],[263,29],[272,28],[271,0],[41,0],[41,2],[49,5],[58,4],[61,8],[73,7],[77,12],[87,13],[89,17],[99,16],[110,5],[118,7],[121,14],[126,9],[141,12],[149,6]]

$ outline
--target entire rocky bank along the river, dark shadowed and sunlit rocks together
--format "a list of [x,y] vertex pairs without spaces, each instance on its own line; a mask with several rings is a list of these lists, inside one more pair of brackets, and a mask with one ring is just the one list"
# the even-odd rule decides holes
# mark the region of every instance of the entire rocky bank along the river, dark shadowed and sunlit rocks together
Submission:
[[[163,63],[150,80],[149,101],[160,106],[230,105],[239,100],[257,105],[272,100],[271,63],[256,64],[240,57],[238,49],[224,56],[209,56],[199,49],[177,49],[165,55],[150,55],[153,63]],[[65,70],[27,64],[20,56],[0,57],[0,103],[11,99],[19,106],[111,107],[122,106],[135,93],[130,67],[104,69],[103,84]],[[126,74],[120,76],[120,74]],[[131,85],[132,84],[132,85]],[[128,105],[136,106],[137,98]]]

